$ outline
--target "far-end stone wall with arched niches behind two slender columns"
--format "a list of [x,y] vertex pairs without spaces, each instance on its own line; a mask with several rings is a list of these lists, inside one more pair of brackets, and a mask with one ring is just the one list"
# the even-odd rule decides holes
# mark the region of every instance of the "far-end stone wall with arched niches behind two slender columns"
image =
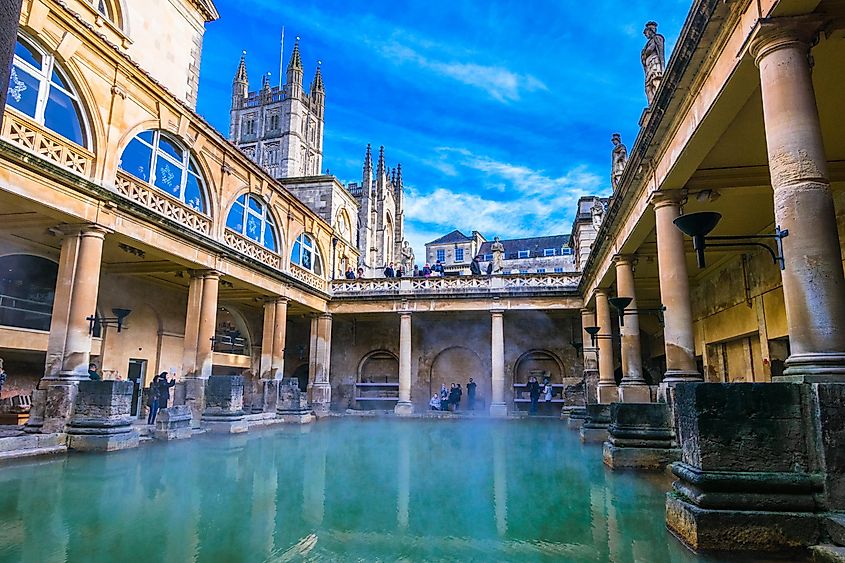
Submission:
[[[441,383],[447,387],[460,383],[466,389],[470,377],[478,384],[478,398],[489,407],[489,314],[414,314],[411,323],[411,400],[415,408],[427,409],[432,393],[440,389]],[[504,328],[505,400],[509,408],[513,407],[514,378],[525,379],[532,370],[550,371],[553,383],[574,384],[581,380],[583,366],[571,345],[571,331],[580,330],[578,319],[544,312],[507,312]],[[399,315],[334,316],[330,380],[335,410],[355,408],[355,383],[362,363],[377,351],[398,358]],[[398,380],[398,363],[396,366]]]

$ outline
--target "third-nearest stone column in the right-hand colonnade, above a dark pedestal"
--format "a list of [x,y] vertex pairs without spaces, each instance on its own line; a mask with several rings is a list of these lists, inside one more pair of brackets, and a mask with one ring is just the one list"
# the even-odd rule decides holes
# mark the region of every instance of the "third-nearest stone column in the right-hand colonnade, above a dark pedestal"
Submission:
[[632,298],[631,304],[627,307],[631,314],[625,315],[624,321],[619,326],[619,332],[622,333],[622,383],[619,385],[619,400],[623,403],[649,403],[651,393],[643,377],[634,267],[630,256],[617,256],[614,261],[616,262],[616,295]]

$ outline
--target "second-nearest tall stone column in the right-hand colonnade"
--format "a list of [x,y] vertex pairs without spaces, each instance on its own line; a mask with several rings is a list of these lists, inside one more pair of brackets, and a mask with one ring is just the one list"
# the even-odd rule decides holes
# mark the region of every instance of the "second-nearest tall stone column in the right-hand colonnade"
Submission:
[[667,386],[683,381],[701,381],[702,378],[695,366],[684,235],[672,222],[680,215],[680,193],[677,190],[655,192],[652,203],[656,218],[660,299],[666,307],[663,327],[666,373],[661,391],[661,396],[665,397]]

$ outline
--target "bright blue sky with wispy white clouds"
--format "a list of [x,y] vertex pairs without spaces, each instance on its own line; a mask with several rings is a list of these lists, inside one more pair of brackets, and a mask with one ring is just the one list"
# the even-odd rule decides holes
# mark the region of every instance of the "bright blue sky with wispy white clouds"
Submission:
[[[250,89],[278,83],[279,33],[310,83],[326,85],[323,168],[360,181],[367,143],[402,163],[406,233],[486,237],[570,232],[575,203],[607,195],[610,136],[631,148],[645,106],[646,21],[667,57],[689,0],[340,2],[216,0],[203,45],[199,112],[228,131],[247,51]],[[287,62],[287,61],[285,61]]]

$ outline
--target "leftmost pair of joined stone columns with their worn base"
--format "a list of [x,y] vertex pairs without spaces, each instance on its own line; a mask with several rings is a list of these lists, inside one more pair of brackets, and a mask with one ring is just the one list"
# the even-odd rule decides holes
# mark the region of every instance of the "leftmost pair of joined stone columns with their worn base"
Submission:
[[[66,226],[56,278],[56,293],[47,340],[43,394],[33,395],[34,417],[29,432],[64,432],[73,414],[77,385],[88,380],[91,357],[91,324],[97,314],[100,265],[107,230],[97,225]],[[39,401],[43,400],[43,404]]]

